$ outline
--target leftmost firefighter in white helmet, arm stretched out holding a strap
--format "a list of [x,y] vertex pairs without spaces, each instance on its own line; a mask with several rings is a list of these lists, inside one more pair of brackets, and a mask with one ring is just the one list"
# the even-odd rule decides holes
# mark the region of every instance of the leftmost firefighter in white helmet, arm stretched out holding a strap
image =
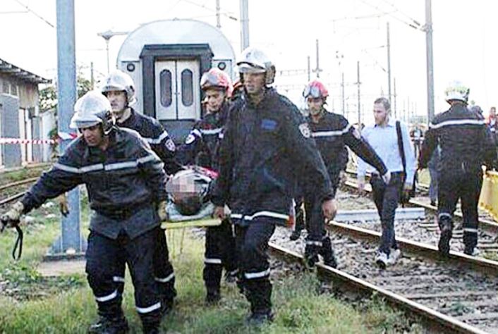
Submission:
[[21,214],[80,184],[94,210],[86,252],[87,279],[97,301],[99,322],[89,333],[126,333],[119,286],[113,280],[116,259],[125,254],[135,287],[135,305],[144,333],[159,333],[164,304],[154,280],[154,244],[165,218],[163,163],[135,131],[116,128],[109,101],[92,91],[78,99],[73,140],[53,168],[44,173],[2,221]]

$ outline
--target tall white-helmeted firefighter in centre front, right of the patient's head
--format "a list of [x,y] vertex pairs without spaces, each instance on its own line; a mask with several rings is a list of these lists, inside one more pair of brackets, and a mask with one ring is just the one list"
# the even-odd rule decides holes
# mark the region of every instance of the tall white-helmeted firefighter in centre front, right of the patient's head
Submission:
[[[267,87],[274,82],[272,62],[248,48],[237,65],[245,92],[224,128],[212,202],[218,218],[224,218],[225,204],[231,209],[238,268],[251,307],[248,322],[259,324],[272,320],[268,240],[275,225],[289,220],[298,178],[315,190],[325,217],[332,218],[336,206],[308,123],[289,99]],[[322,235],[312,237],[321,242]]]

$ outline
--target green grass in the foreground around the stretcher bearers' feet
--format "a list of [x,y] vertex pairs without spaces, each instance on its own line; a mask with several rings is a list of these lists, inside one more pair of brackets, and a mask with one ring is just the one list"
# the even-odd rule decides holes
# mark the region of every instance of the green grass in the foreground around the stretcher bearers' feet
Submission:
[[[89,210],[85,198],[82,202],[86,226]],[[85,276],[47,279],[35,270],[59,235],[56,211],[56,206],[51,206],[32,213],[34,221],[23,227],[25,252],[21,261],[11,259],[15,233],[0,235],[0,282],[7,282],[0,285],[0,333],[86,333],[87,326],[97,317],[95,299]],[[82,231],[87,233],[85,228]],[[235,285],[223,284],[220,304],[205,306],[204,240],[188,231],[174,230],[168,232],[168,242],[178,297],[174,311],[162,323],[164,333],[423,333],[377,297],[359,304],[345,302],[328,293],[314,273],[303,271],[275,271],[275,321],[250,328],[244,325],[249,304]],[[140,333],[128,273],[123,309],[131,333]]]

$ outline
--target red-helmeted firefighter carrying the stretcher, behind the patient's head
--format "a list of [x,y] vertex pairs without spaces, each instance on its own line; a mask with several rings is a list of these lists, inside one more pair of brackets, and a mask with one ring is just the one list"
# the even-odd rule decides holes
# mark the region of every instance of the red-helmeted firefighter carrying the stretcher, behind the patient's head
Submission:
[[[223,126],[229,112],[231,80],[218,68],[211,68],[202,75],[200,87],[207,101],[205,115],[193,126],[179,151],[183,163],[194,164],[218,171],[218,149],[223,138]],[[206,303],[216,304],[220,299],[220,283],[223,268],[226,279],[235,280],[237,266],[235,260],[235,237],[229,219],[219,226],[206,230],[205,259],[203,278],[206,285]]]

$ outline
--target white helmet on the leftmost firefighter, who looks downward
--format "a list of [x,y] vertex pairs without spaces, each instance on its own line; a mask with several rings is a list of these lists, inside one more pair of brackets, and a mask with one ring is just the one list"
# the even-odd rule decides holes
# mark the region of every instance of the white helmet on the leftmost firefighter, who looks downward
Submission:
[[111,104],[102,93],[92,90],[80,97],[74,105],[74,115],[71,118],[70,128],[81,129],[102,124],[104,135],[108,135],[114,126]]

